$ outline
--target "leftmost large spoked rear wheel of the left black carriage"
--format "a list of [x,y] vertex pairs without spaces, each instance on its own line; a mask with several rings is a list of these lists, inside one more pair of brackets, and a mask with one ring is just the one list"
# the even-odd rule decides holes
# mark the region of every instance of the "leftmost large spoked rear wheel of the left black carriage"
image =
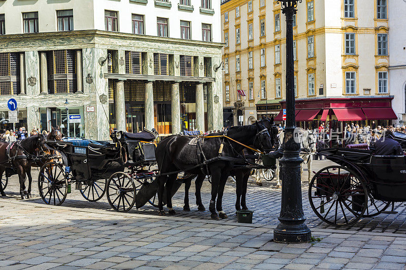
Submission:
[[44,164],[38,175],[38,190],[46,204],[61,205],[67,195],[67,178],[63,167],[55,162]]

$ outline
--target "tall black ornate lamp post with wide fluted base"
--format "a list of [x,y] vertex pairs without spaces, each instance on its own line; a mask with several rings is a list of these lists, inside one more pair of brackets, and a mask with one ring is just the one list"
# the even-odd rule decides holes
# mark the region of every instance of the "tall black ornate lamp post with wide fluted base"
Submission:
[[[282,180],[282,206],[280,223],[274,229],[274,241],[278,243],[310,242],[311,232],[304,223],[299,157],[300,144],[295,140],[295,95],[293,63],[293,15],[301,0],[278,0],[286,16],[286,128],[283,141],[283,157],[280,178]],[[310,173],[310,172],[309,172]]]

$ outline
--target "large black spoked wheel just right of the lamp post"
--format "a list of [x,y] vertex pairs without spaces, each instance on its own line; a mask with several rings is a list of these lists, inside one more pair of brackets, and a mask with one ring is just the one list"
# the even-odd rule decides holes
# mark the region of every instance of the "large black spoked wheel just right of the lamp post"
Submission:
[[316,215],[334,226],[352,225],[367,208],[368,192],[363,181],[343,166],[318,171],[309,184],[309,202]]

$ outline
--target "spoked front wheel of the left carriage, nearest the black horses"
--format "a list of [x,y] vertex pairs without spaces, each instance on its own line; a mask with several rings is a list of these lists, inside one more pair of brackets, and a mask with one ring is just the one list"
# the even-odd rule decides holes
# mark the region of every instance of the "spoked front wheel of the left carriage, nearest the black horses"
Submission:
[[124,172],[116,172],[107,182],[107,200],[117,212],[129,211],[136,203],[136,185]]

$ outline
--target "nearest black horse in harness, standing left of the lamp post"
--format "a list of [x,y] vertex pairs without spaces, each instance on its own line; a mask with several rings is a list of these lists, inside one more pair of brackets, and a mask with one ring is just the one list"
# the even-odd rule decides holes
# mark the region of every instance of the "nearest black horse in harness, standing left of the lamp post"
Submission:
[[[219,219],[216,209],[220,212],[221,218],[227,217],[222,209],[222,197],[226,180],[234,167],[234,161],[220,159],[202,167],[198,165],[202,164],[205,159],[210,160],[218,156],[238,158],[239,153],[245,148],[244,145],[253,145],[261,150],[272,148],[268,129],[258,122],[255,125],[229,128],[226,135],[232,140],[222,137],[223,135],[223,133],[211,134],[210,136],[219,137],[205,138],[200,150],[198,150],[198,146],[189,144],[192,138],[174,135],[162,140],[155,150],[158,169],[161,174],[185,170],[187,173],[194,175],[206,174],[212,176],[212,199],[209,206],[212,219]],[[192,167],[194,168],[191,169]],[[158,179],[159,215],[165,214],[162,203],[165,183],[169,214],[175,214],[170,193],[176,178],[177,173],[163,175]]]

